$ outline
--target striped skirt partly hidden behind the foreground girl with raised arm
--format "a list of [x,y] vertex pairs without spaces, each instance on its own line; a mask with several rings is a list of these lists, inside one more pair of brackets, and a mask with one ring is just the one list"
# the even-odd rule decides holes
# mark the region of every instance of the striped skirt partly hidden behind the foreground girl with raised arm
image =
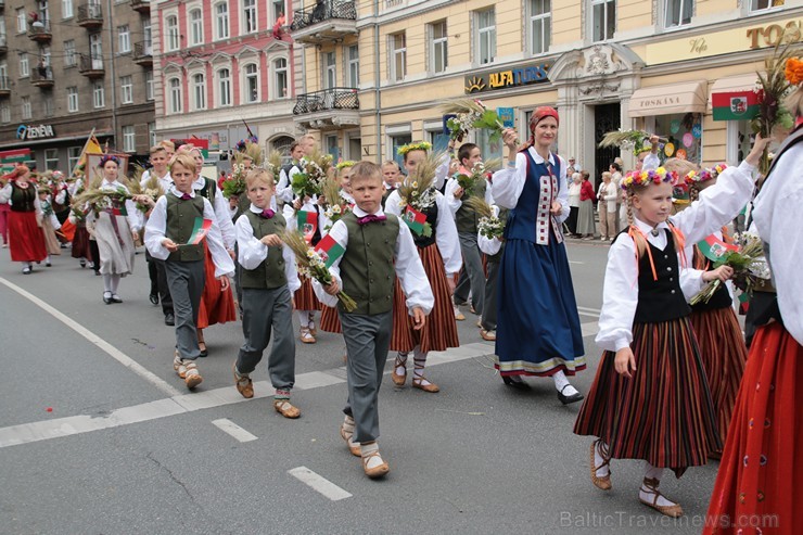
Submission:
[[693,311],[691,326],[694,328],[700,358],[709,380],[711,400],[719,421],[719,437],[725,442],[736,394],[744,373],[748,347],[736,314],[730,307]]

